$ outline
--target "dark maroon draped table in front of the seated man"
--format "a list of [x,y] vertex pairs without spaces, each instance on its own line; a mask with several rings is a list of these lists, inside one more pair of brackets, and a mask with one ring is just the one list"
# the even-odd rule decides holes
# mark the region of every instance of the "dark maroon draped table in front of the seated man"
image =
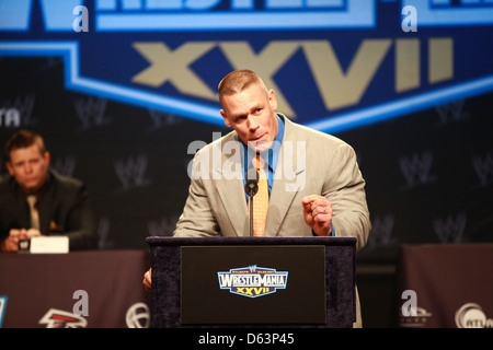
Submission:
[[0,254],[3,328],[145,328],[147,250]]

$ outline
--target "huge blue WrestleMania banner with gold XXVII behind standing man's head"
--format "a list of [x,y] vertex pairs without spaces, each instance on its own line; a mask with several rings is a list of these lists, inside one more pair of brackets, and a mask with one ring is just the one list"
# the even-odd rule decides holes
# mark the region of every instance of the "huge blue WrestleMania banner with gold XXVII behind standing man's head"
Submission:
[[[0,0],[0,57],[61,57],[65,88],[223,126],[218,79],[339,132],[493,91],[491,0]],[[9,82],[5,82],[9,83]]]

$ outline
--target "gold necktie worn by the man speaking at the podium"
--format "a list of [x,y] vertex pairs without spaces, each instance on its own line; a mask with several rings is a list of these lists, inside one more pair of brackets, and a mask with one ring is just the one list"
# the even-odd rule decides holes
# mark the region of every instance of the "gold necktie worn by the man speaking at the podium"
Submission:
[[[252,160],[253,166],[259,172],[259,191],[253,197],[253,235],[263,236],[268,210],[268,183],[264,171],[264,160],[260,154]],[[250,199],[249,199],[250,208]]]

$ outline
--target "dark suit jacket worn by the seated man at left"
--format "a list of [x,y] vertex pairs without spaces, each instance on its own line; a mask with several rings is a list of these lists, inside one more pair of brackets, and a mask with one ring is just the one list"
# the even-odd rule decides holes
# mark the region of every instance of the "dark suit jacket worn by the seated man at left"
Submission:
[[[84,184],[48,170],[41,196],[42,234],[68,235],[71,250],[98,247],[94,214]],[[5,238],[11,229],[30,229],[30,209],[15,179],[4,175],[0,177],[0,240]]]

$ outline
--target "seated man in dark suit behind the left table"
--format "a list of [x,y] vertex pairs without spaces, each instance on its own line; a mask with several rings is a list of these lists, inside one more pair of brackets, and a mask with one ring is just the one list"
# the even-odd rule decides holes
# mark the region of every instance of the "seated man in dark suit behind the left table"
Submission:
[[[94,215],[85,186],[49,168],[43,138],[19,130],[7,142],[9,174],[0,177],[0,247],[19,250],[20,240],[67,235],[69,248],[94,249]],[[31,203],[31,201],[33,203]]]

